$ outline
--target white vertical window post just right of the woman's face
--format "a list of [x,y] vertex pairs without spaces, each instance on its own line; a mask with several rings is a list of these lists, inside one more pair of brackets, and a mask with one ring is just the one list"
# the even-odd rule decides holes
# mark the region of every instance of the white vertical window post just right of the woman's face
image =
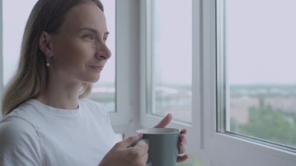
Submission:
[[[116,0],[116,112],[109,116],[115,133],[133,134],[136,112],[139,108],[137,84],[138,52],[138,2]],[[107,18],[108,19],[108,18]]]

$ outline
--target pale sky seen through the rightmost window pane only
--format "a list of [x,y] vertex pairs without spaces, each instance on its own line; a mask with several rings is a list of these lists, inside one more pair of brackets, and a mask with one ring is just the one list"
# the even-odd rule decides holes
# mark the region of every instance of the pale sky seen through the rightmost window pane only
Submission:
[[226,0],[229,82],[296,83],[296,0]]

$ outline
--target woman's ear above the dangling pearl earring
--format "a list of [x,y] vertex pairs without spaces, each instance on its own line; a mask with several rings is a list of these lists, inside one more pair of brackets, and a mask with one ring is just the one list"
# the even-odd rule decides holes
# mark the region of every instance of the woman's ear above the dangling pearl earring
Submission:
[[45,55],[52,55],[52,37],[47,32],[43,31],[39,38],[39,49]]

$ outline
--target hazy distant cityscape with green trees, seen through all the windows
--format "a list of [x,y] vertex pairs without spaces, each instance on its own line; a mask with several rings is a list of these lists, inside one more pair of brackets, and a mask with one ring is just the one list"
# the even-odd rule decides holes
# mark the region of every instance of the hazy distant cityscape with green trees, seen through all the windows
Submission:
[[[296,147],[296,84],[252,84],[229,87],[229,132]],[[191,86],[155,86],[153,114],[191,122]],[[113,84],[94,85],[88,97],[115,111]]]

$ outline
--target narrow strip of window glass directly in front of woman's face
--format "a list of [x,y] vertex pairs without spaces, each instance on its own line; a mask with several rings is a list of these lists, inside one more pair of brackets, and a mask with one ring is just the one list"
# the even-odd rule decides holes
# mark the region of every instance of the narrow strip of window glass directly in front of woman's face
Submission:
[[100,80],[93,84],[92,94],[88,98],[102,103],[107,111],[115,112],[115,0],[101,0],[101,2],[104,5],[104,13],[110,33],[107,46],[111,50],[112,56],[104,66]]

